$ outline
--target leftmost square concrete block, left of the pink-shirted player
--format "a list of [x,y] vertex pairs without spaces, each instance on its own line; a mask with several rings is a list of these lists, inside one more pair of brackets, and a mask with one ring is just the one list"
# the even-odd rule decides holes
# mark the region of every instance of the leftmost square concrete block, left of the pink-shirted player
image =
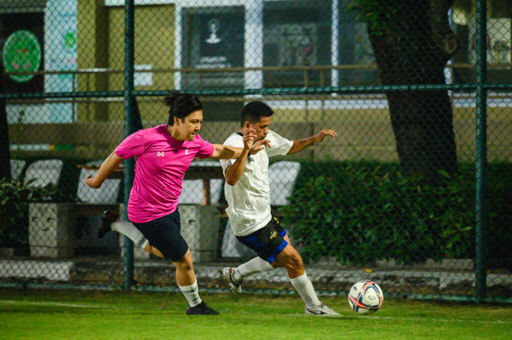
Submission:
[[73,256],[76,214],[73,203],[30,203],[31,257]]

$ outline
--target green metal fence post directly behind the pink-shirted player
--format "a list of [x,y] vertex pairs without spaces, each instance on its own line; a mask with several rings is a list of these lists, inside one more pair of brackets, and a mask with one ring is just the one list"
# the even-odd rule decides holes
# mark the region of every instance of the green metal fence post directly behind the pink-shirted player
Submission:
[[[124,135],[133,131],[133,90],[134,90],[134,0],[126,0],[124,5]],[[134,179],[134,160],[130,158],[124,161],[124,209],[128,206],[130,190]],[[125,216],[128,216],[126,213]],[[133,285],[133,242],[124,237],[124,289]]]

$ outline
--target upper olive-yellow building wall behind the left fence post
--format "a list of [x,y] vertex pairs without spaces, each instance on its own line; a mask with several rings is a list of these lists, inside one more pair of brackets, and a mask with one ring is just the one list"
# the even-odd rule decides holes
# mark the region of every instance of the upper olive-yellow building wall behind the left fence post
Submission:
[[[147,25],[151,21],[153,25]],[[166,46],[162,49],[161,46]],[[135,65],[151,70],[174,67],[174,5],[135,8]],[[103,0],[78,2],[78,68],[124,68],[124,8],[106,7]],[[136,73],[135,89],[172,89],[172,73]],[[79,91],[122,90],[123,74],[90,73],[77,77]],[[139,85],[137,85],[139,84]],[[140,105],[154,119],[157,102]],[[86,101],[78,105],[78,121],[112,121],[123,118],[122,100]],[[145,119],[145,117],[143,117]]]

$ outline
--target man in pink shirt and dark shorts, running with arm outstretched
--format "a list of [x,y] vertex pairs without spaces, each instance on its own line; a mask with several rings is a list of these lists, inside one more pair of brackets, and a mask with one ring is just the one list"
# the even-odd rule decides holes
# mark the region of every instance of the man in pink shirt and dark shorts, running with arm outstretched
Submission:
[[[268,145],[268,141],[253,144],[256,135],[254,130],[249,130],[244,134],[243,148],[208,143],[197,134],[203,121],[203,106],[197,96],[177,92],[165,97],[164,104],[169,107],[168,123],[131,134],[106,158],[96,176],[86,179],[86,183],[91,188],[99,188],[122,160],[137,156],[127,206],[133,224],[119,221],[112,230],[130,237],[148,252],[176,266],[176,282],[189,304],[187,314],[218,314],[199,297],[190,250],[180,234],[177,207],[183,177],[195,156],[214,160],[237,158],[243,150],[256,153],[264,149],[263,145]],[[115,217],[109,214],[112,215],[103,213],[102,221],[114,221]],[[100,228],[98,237],[110,228],[110,225],[108,230]]]

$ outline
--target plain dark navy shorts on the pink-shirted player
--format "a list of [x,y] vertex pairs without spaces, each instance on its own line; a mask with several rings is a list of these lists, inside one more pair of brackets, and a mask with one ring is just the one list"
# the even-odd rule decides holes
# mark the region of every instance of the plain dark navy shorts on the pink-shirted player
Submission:
[[181,236],[178,208],[169,215],[144,223],[133,223],[148,242],[170,262],[181,260],[188,251],[188,244]]

